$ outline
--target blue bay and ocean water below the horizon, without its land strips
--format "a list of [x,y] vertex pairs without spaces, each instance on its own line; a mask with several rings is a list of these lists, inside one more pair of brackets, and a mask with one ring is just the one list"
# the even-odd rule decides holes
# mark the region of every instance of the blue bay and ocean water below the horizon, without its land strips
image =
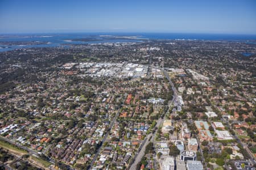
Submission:
[[[136,36],[137,39],[154,40],[226,40],[226,41],[246,41],[246,43],[256,44],[256,35],[234,35],[234,34],[207,34],[207,33],[31,33],[31,34],[10,34],[0,35],[0,42],[9,41],[9,45],[0,44],[0,52],[18,48],[33,47],[57,47],[67,44],[96,44],[105,42],[141,42],[137,39],[115,39],[101,41],[69,41],[71,39],[82,39],[96,36]],[[254,40],[254,41],[251,41]],[[15,45],[18,41],[39,41],[47,42],[36,45]]]

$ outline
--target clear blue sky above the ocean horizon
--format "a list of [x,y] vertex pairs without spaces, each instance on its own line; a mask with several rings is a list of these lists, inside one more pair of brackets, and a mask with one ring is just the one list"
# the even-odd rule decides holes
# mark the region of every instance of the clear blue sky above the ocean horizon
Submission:
[[39,32],[256,35],[256,1],[0,0],[0,33]]

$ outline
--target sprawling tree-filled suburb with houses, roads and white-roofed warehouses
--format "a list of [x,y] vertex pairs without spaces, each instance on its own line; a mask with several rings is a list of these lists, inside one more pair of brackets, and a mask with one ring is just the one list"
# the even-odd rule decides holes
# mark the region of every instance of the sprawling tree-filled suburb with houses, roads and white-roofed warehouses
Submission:
[[248,49],[150,40],[1,52],[0,167],[253,170]]

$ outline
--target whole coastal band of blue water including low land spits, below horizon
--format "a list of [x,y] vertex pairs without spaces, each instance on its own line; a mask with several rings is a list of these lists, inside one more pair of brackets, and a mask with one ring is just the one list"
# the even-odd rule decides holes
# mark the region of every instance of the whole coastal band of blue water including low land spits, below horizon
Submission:
[[0,36],[0,52],[18,48],[57,47],[69,44],[148,41],[233,41],[256,45],[256,35],[205,33],[43,33],[42,35],[4,35]]

